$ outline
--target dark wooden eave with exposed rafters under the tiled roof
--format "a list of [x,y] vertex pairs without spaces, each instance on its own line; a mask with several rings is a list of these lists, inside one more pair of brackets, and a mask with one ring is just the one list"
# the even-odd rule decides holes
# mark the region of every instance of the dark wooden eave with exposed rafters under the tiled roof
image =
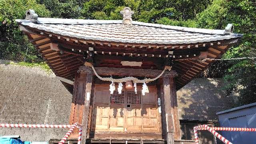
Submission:
[[[220,58],[239,39],[195,44],[131,44],[83,40],[38,31],[35,28],[26,28],[27,30],[24,32],[56,76],[73,81],[78,68],[83,65],[84,57],[90,53],[90,47],[93,48],[91,52],[94,55],[94,67],[162,70],[166,57],[172,58],[174,60],[172,70],[178,73],[176,77],[177,90],[214,62],[214,60],[206,60],[201,63],[192,60],[198,58],[200,52],[207,52],[206,58]],[[52,50],[50,44],[58,44],[58,50]],[[143,64],[142,67],[122,66],[121,61],[142,61]],[[64,82],[63,84],[72,92],[72,85]]]

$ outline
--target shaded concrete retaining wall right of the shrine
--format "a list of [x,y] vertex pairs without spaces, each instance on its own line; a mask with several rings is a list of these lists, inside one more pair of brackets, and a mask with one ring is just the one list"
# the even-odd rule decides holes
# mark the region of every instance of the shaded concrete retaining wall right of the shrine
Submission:
[[221,78],[195,78],[177,92],[178,112],[182,120],[218,120],[216,112],[232,107]]

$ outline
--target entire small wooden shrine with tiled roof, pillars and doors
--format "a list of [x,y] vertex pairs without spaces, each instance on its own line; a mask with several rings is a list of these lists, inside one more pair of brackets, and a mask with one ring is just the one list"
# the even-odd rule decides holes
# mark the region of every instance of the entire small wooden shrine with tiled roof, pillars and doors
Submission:
[[[205,58],[220,58],[242,35],[232,33],[232,24],[185,28],[133,21],[130,8],[121,14],[123,20],[75,20],[39,18],[28,10],[26,20],[16,22],[54,74],[66,79],[73,94],[69,121],[83,125],[82,143],[178,143],[176,90],[214,62]],[[172,69],[146,83],[145,95],[143,83],[134,87],[132,81],[120,92],[115,82],[110,94],[111,82],[99,78],[156,78],[165,66]]]

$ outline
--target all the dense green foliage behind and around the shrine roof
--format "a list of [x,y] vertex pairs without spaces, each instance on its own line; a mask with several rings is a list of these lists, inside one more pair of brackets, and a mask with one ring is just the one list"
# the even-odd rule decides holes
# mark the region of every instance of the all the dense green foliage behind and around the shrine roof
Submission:
[[[240,45],[223,58],[256,56],[256,2],[249,0],[1,0],[0,59],[42,62],[15,19],[24,19],[27,9],[40,17],[121,20],[120,10],[129,6],[133,20],[174,26],[224,29],[233,23],[244,34]],[[214,63],[208,76],[223,77],[228,96],[240,93],[238,104],[256,102],[256,60]]]

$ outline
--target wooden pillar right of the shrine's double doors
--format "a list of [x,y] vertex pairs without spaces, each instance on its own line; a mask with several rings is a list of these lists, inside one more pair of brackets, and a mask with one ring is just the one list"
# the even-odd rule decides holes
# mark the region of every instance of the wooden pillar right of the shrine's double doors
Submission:
[[178,104],[174,77],[176,72],[166,72],[158,80],[158,94],[161,98],[162,134],[167,144],[174,144],[174,139],[181,139]]

